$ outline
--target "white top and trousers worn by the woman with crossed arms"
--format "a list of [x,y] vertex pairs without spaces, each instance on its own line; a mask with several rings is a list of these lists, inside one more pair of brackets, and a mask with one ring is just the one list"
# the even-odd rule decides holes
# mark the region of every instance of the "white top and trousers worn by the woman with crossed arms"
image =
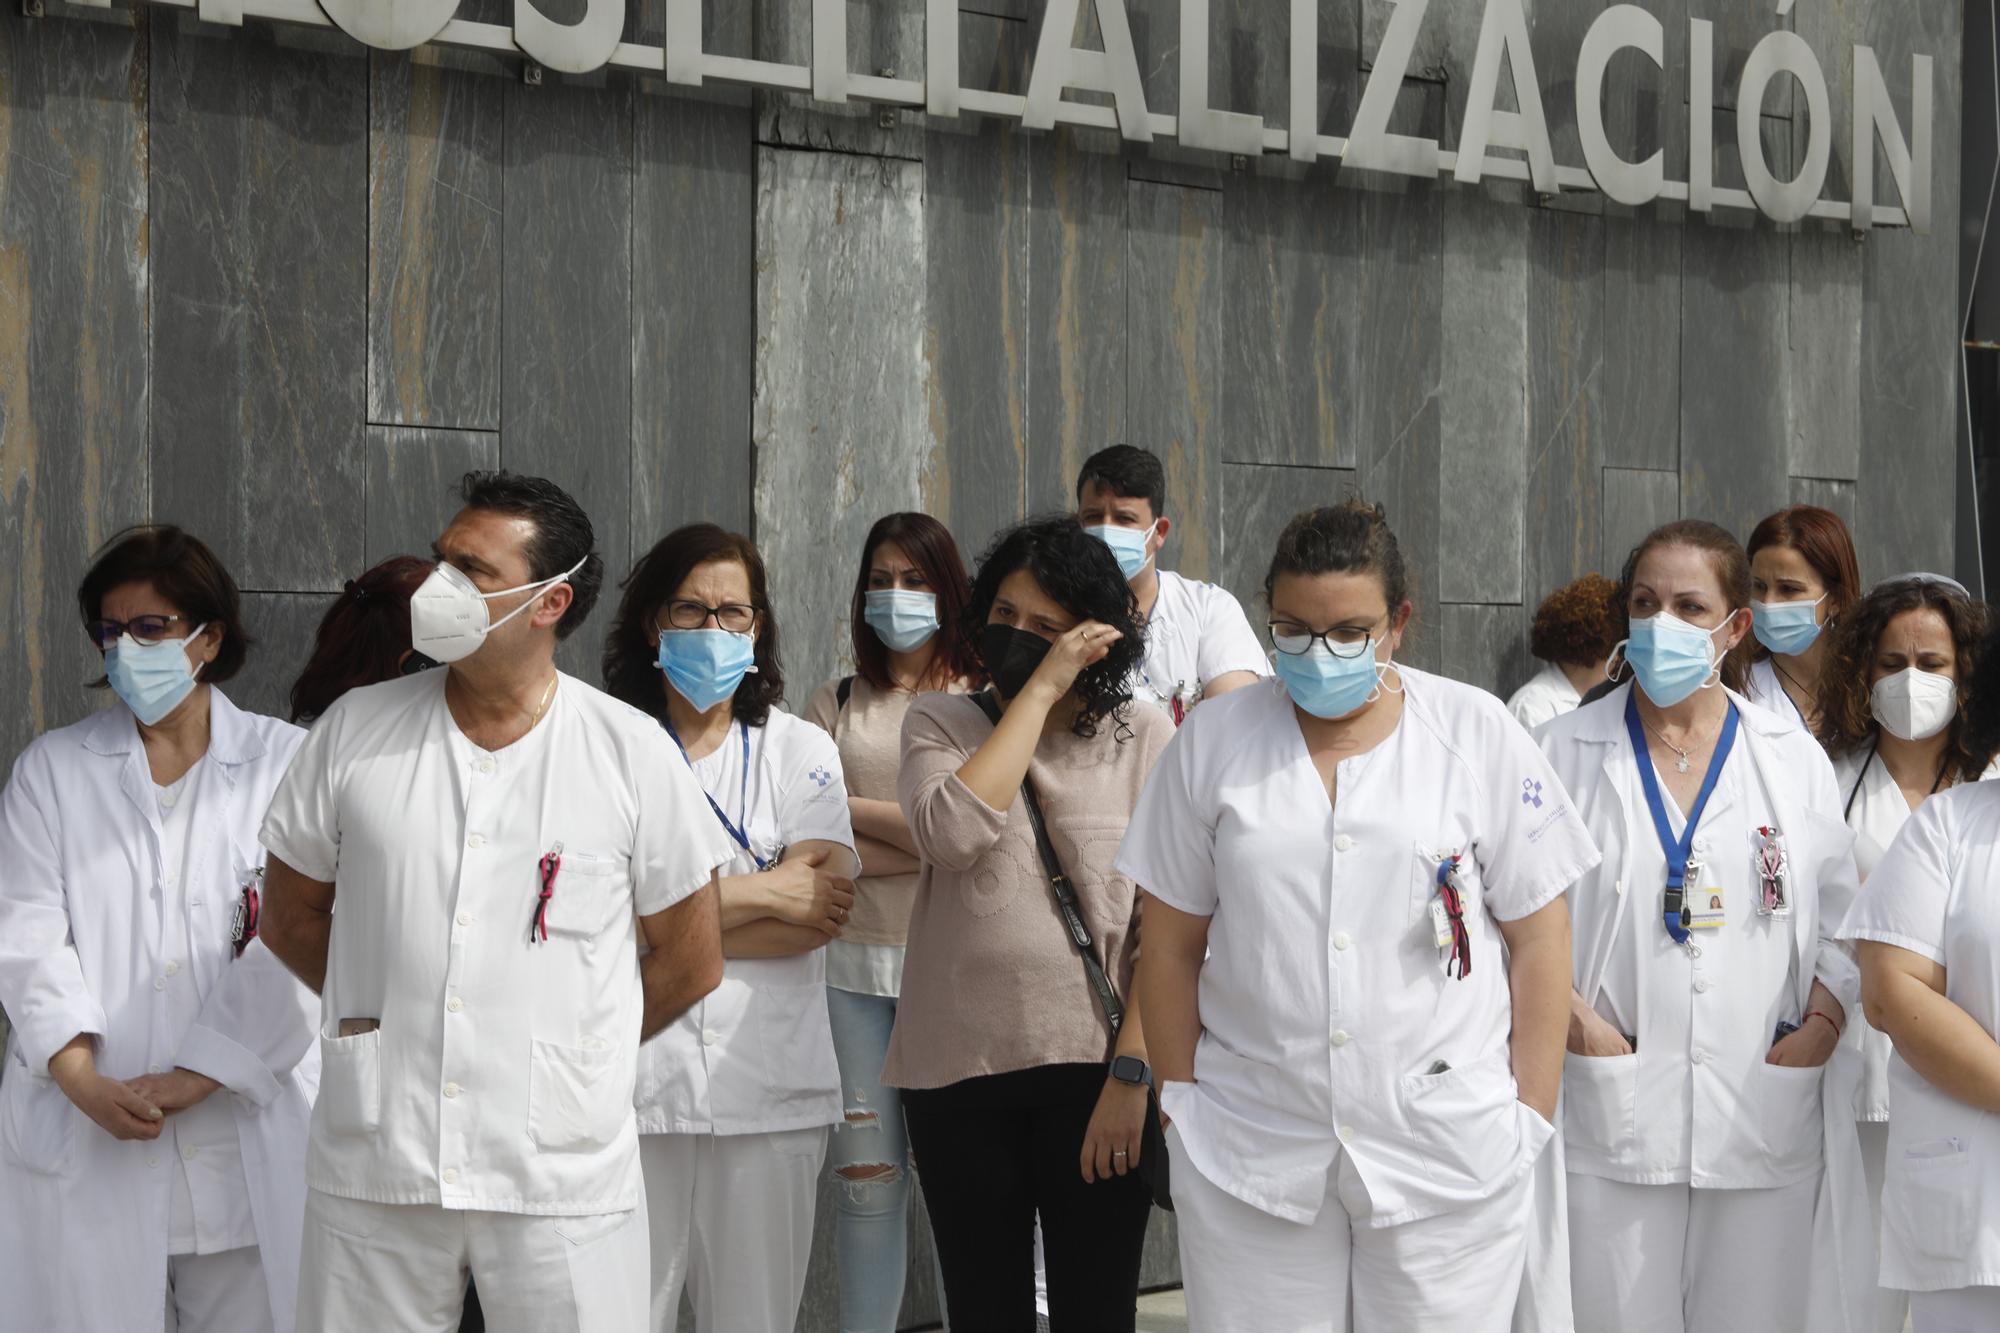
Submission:
[[[724,879],[756,875],[758,859],[778,865],[784,849],[810,841],[846,849],[846,865],[828,863],[836,875],[860,873],[840,751],[812,723],[788,713],[762,727],[736,723],[694,761],[694,777],[750,841],[738,847],[702,803],[730,853]],[[722,985],[640,1049],[656,1329],[674,1325],[682,1285],[702,1333],[792,1329],[826,1135],[844,1105],[824,949],[726,959]]]

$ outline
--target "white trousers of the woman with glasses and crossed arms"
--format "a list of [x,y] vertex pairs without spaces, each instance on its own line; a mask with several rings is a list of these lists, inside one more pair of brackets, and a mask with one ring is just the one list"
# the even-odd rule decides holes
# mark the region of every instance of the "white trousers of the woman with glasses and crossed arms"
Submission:
[[682,1287],[698,1333],[792,1333],[826,1133],[640,1135],[654,1333],[674,1333]]

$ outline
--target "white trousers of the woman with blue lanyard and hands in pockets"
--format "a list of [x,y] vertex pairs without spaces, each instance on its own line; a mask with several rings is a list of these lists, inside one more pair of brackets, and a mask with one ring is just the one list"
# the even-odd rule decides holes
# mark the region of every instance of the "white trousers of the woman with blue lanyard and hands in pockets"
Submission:
[[1570,1173],[1576,1333],[1806,1333],[1820,1179],[1780,1189]]

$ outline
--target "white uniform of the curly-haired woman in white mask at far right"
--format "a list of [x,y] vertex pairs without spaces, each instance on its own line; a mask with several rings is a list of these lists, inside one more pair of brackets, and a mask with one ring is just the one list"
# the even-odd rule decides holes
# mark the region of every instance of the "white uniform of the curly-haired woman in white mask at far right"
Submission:
[[[1992,779],[1996,775],[2000,775],[2000,765],[1990,767],[1982,777]],[[1872,747],[1836,759],[1834,779],[1840,789],[1840,805],[1848,827],[1854,831],[1854,865],[1866,887],[1876,863],[1882,861],[1882,853],[1888,851],[1890,843],[1896,841],[1896,835],[1908,823],[1910,803],[1904,801],[1902,789],[1890,777],[1888,765],[1874,755]],[[1876,1237],[1882,1229],[1882,1175],[1888,1159],[1888,1035],[1870,1027],[1868,1019],[1856,1009],[1848,1015],[1848,1033],[1826,1067],[1828,1097],[1840,1099],[1840,1105],[1850,1107],[1852,1117],[1858,1121],[1862,1167],[1868,1183],[1868,1215],[1860,1219],[1866,1227],[1856,1227],[1852,1237],[1844,1237],[1848,1241],[1846,1249],[1852,1249],[1846,1257],[1846,1267],[1860,1269],[1870,1279],[1878,1263]],[[1866,1289],[1862,1291],[1860,1287]],[[1874,1281],[1856,1283],[1856,1289],[1850,1293],[1850,1303],[1858,1305],[1866,1301],[1876,1309],[1874,1319],[1856,1317],[1852,1321],[1856,1331],[1880,1329],[1882,1333],[1902,1333],[1904,1315],[1910,1305],[1904,1291],[1876,1287]]]

